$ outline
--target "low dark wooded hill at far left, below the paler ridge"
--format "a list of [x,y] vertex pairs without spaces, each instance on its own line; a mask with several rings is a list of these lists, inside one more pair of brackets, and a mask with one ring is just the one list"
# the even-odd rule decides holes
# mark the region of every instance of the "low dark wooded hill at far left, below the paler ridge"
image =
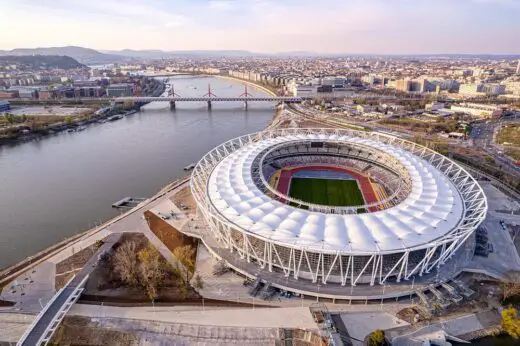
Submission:
[[1,64],[22,65],[29,69],[75,69],[85,68],[70,56],[60,55],[3,55],[0,56]]

